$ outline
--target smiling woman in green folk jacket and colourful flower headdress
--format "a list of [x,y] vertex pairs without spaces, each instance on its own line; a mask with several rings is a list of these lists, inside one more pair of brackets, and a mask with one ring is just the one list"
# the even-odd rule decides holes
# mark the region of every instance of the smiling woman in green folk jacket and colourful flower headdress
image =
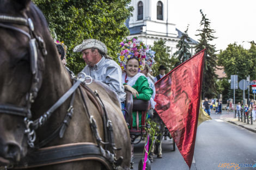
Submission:
[[[124,70],[122,81],[125,89],[131,91],[133,99],[150,100],[153,90],[144,74],[146,47],[137,37],[125,39],[120,43],[121,52],[118,57],[120,67]],[[141,127],[141,112],[132,112],[132,127]],[[138,122],[137,122],[138,119]]]

